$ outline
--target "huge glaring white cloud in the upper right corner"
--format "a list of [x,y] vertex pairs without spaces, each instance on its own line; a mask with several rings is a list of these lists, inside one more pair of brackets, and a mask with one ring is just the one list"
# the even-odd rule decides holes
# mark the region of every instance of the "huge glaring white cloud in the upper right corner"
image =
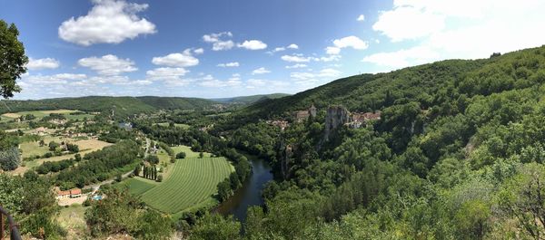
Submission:
[[[471,7],[467,7],[471,5]],[[545,22],[545,2],[508,0],[395,0],[382,12],[375,31],[391,42],[418,40],[389,53],[363,59],[384,71],[442,59],[475,59],[545,43],[540,29]],[[410,56],[418,53],[420,56]],[[399,58],[398,58],[399,57]]]

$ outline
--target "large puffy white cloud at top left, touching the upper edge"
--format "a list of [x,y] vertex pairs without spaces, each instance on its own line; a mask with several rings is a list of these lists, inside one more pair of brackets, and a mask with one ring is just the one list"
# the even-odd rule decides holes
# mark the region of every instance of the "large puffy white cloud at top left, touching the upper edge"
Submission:
[[121,43],[140,34],[156,33],[155,25],[137,13],[148,5],[124,0],[94,0],[93,8],[84,16],[66,20],[59,26],[64,41],[89,46],[94,43]]

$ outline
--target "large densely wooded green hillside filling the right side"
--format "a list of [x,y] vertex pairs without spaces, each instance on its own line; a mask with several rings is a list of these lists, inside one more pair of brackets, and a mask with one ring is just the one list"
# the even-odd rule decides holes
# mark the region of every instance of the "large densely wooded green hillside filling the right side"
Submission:
[[[353,76],[247,107],[212,131],[274,169],[245,236],[540,239],[544,82],[545,46]],[[311,104],[315,118],[291,121]],[[323,144],[332,105],[381,119]],[[278,119],[291,121],[280,133],[264,121]]]

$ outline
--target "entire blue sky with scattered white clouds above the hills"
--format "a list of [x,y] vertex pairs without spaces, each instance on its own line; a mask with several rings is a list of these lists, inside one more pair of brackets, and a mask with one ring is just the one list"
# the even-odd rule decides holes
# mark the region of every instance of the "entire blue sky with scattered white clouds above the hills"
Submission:
[[296,93],[545,43],[542,0],[0,0],[30,58],[14,99]]

